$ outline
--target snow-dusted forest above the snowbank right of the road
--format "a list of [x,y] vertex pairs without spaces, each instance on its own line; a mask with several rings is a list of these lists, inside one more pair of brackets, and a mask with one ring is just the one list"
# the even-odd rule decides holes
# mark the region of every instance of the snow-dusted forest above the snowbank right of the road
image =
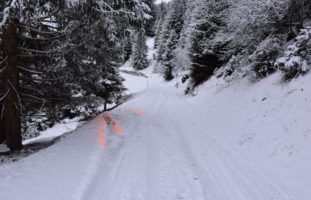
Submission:
[[166,80],[190,71],[187,93],[213,75],[256,82],[279,70],[286,82],[309,71],[308,0],[174,0],[159,10],[159,70]]

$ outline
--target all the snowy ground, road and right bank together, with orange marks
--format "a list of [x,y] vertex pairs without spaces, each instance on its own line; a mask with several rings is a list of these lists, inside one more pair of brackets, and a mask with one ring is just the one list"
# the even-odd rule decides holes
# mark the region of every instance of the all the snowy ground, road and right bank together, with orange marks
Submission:
[[310,75],[186,97],[151,71],[126,75],[129,102],[0,166],[0,199],[311,199]]

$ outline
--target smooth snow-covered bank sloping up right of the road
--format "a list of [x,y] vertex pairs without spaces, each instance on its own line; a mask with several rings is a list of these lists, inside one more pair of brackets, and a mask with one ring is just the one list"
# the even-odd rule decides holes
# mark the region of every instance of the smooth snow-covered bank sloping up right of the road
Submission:
[[311,199],[311,75],[282,84],[212,78],[189,98],[210,134],[232,146],[293,199]]

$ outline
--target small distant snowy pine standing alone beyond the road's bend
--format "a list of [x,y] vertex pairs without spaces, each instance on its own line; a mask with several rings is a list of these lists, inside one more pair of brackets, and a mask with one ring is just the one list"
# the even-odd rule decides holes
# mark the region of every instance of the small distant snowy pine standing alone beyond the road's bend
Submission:
[[132,61],[134,69],[142,70],[148,67],[147,51],[148,47],[146,45],[145,31],[140,30],[135,36],[132,50]]

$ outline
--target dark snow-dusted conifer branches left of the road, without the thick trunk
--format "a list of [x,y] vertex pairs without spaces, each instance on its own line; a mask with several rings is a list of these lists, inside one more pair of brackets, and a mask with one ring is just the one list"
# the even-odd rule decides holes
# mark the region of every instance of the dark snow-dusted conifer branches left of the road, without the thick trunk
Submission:
[[[36,134],[66,117],[88,118],[101,104],[119,101],[125,90],[119,76],[129,41],[125,30],[145,20],[147,8],[140,1],[17,2],[9,14],[18,22],[24,133]],[[0,18],[9,6],[2,3]],[[4,92],[1,80],[0,96]]]

